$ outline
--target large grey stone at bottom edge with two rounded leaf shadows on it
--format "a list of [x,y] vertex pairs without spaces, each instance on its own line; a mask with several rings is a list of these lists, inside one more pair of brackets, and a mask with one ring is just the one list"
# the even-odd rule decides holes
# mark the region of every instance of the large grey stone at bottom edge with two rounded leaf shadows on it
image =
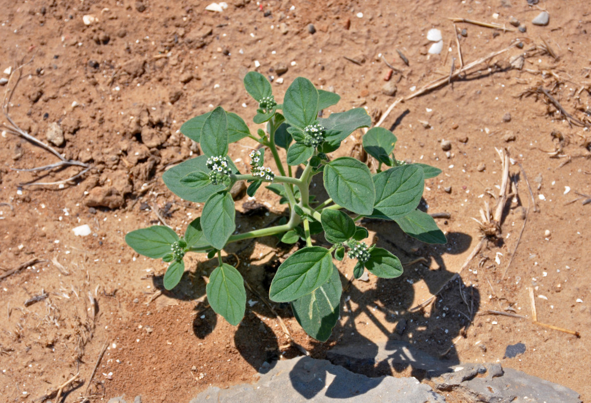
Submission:
[[190,403],[444,403],[444,397],[415,378],[368,378],[307,356],[265,363],[254,385],[215,386]]

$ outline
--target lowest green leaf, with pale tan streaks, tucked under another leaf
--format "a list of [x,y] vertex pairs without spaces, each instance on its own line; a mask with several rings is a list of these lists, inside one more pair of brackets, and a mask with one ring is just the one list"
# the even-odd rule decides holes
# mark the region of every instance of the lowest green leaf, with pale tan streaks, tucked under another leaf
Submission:
[[300,326],[314,339],[326,342],[339,320],[339,303],[343,286],[339,271],[332,265],[327,283],[291,303],[291,310]]

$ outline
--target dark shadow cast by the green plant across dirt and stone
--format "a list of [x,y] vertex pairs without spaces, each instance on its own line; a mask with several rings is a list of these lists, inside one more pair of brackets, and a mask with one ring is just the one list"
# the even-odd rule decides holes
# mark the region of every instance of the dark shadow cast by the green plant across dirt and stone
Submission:
[[[316,178],[314,177],[315,182]],[[316,188],[314,193],[318,194],[322,200],[324,191],[322,182],[316,183],[318,185],[313,186]],[[421,202],[420,209],[425,209],[424,201]],[[281,217],[272,212],[268,216],[264,213],[251,217],[239,214],[237,223],[243,228],[260,227],[261,222],[265,223],[263,225],[274,225],[273,223]],[[420,257],[428,257],[431,263],[427,261],[427,263],[405,264],[404,274],[400,278],[377,279],[375,287],[369,289],[368,283],[358,280],[351,282],[343,276],[343,270],[340,270],[344,285],[340,316],[345,320],[337,323],[333,329],[333,335],[326,343],[316,342],[316,340],[309,342],[306,349],[310,356],[327,358],[327,350],[337,344],[359,348],[363,357],[362,359],[343,359],[342,356],[339,358],[333,355],[329,357],[330,360],[345,366],[352,372],[363,373],[369,377],[404,372],[404,375],[424,379],[451,371],[450,367],[459,363],[454,349],[454,339],[465,336],[466,329],[472,324],[480,305],[480,292],[475,286],[466,287],[461,278],[458,278],[447,283],[433,303],[423,309],[414,310],[413,307],[417,301],[413,284],[424,281],[431,294],[439,291],[441,285],[453,276],[453,271],[447,270],[443,255],[463,253],[469,248],[472,238],[461,232],[451,232],[447,234],[446,245],[428,245],[408,237],[392,221],[363,219],[362,225],[376,234],[373,240],[368,241],[397,255],[402,264]],[[315,243],[322,245],[326,244],[326,241],[322,236],[317,236]],[[270,252],[263,257],[254,255],[255,251],[260,249],[256,247],[257,244],[264,245]],[[293,317],[290,305],[274,303],[268,299],[269,285],[280,264],[280,258],[285,258],[292,247],[293,245],[281,243],[278,238],[264,237],[257,238],[256,241],[246,240],[230,244],[225,249],[228,257],[225,257],[224,261],[233,266],[237,265],[249,286],[256,290],[256,293],[253,293],[249,287],[246,287],[246,313],[234,335],[234,345],[245,361],[257,370],[264,362],[277,361],[281,350],[283,358],[301,355],[300,350],[293,346],[291,348],[282,346],[281,340],[285,338],[281,330],[277,332],[280,335],[279,338],[274,331],[278,328],[275,314],[284,318]],[[274,256],[268,258],[269,254]],[[236,262],[236,258],[240,261]],[[265,258],[267,258],[266,263],[256,264],[257,261]],[[154,286],[168,297],[197,302],[194,307],[193,333],[198,339],[204,339],[210,335],[217,325],[217,320],[223,320],[217,318],[204,298],[206,287],[204,277],[216,266],[216,258],[201,261],[199,267],[196,263],[187,266],[183,279],[171,291],[164,290],[162,276],[153,278]],[[343,267],[342,264],[339,266]],[[348,278],[351,277],[352,273],[348,273]],[[269,307],[259,299],[257,293],[271,303],[275,313],[271,312]],[[380,316],[384,319],[376,317],[374,312],[377,310],[381,311]],[[375,342],[363,336],[363,331],[359,332],[360,327],[369,324],[366,320],[371,321],[372,325],[385,336],[382,338],[385,341]],[[298,330],[293,329],[293,326],[290,330],[294,332],[292,335],[297,337]],[[294,376],[297,376],[301,370],[306,370],[303,367],[300,368],[302,365],[304,365],[303,362],[296,365],[293,370]],[[340,382],[339,379],[327,381],[334,378],[336,374],[332,375],[331,377],[327,373],[315,373],[313,385],[305,382],[307,385],[305,389],[301,389],[303,384],[297,379],[292,383],[294,388],[306,398],[313,398],[325,389],[324,393],[327,397],[348,397],[342,396],[342,392],[337,390],[339,388],[335,387]],[[330,385],[326,382],[330,382]],[[357,391],[357,394],[367,392],[380,382],[376,379],[375,384]]]

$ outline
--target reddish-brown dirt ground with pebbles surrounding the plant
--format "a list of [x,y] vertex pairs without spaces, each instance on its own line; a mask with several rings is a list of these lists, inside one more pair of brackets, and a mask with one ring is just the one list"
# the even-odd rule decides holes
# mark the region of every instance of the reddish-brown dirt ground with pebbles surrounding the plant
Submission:
[[[151,208],[178,232],[200,214],[200,205],[178,199],[161,181],[165,169],[199,152],[178,133],[181,123],[217,105],[249,121],[256,105],[241,77],[249,70],[277,76],[274,70],[281,64],[288,71],[281,76],[284,83],[273,84],[277,99],[294,78],[304,76],[342,96],[325,113],[363,106],[379,116],[395,97],[382,93],[388,67],[378,54],[400,69],[392,80],[397,96],[407,96],[414,87],[450,74],[457,51],[447,17],[513,28],[512,16],[525,22],[527,32],[458,23],[458,30],[467,31],[459,39],[463,60],[467,64],[501,50],[515,38],[521,38],[523,49],[512,48],[472,74],[398,104],[384,122],[398,137],[399,159],[443,169],[427,181],[424,207],[450,213],[449,219],[437,219],[449,244],[424,245],[401,235],[393,224],[368,221],[378,245],[403,262],[426,261],[407,265],[401,279],[372,277],[350,284],[343,295],[342,321],[324,344],[308,338],[287,307],[277,310],[294,339],[316,357],[345,340],[389,336],[450,363],[499,361],[591,399],[591,258],[585,252],[591,205],[583,204],[588,196],[569,204],[579,197],[576,192],[591,194],[589,131],[569,126],[545,96],[527,93],[546,89],[567,112],[589,124],[588,1],[529,6],[525,0],[285,0],[259,6],[238,0],[222,13],[205,11],[209,1],[185,0],[1,4],[1,70],[29,62],[14,94],[15,77],[0,87],[12,95],[10,116],[43,141],[49,124],[58,123],[65,145],[57,149],[94,167],[74,185],[22,186],[19,191],[22,183],[59,181],[79,171],[67,168],[47,176],[15,171],[57,158],[2,133],[0,267],[10,270],[32,258],[42,260],[0,280],[2,400],[33,401],[79,372],[61,401],[123,393],[141,394],[147,402],[188,401],[209,385],[253,381],[267,359],[298,355],[287,345],[277,318],[254,294],[248,298],[258,303],[247,307],[238,329],[206,308],[203,277],[214,266],[203,255],[192,258],[181,286],[154,299],[165,264],[126,247],[126,232],[158,222]],[[547,27],[530,23],[540,9],[550,12]],[[96,21],[86,26],[83,15]],[[440,55],[427,54],[430,28],[443,33]],[[396,49],[410,65],[402,63]],[[511,57],[524,53],[522,69],[509,68]],[[251,130],[256,131],[254,124]],[[354,133],[339,155],[359,155],[360,139],[361,133]],[[452,144],[449,156],[441,149],[443,139]],[[242,158],[240,169],[246,168],[245,155],[253,145],[248,139],[232,145],[232,158]],[[508,149],[514,159],[509,171],[518,192],[505,210],[501,239],[486,243],[462,271],[460,283],[449,283],[435,303],[411,312],[460,270],[478,244],[480,231],[472,218],[480,217],[486,201],[495,205],[489,192],[498,194],[501,184],[495,148]],[[444,191],[448,186],[450,193]],[[100,203],[111,209],[88,206],[107,194]],[[263,189],[256,199],[269,214],[238,214],[242,227],[266,225],[284,213],[270,192]],[[245,201],[236,202],[240,211]],[[72,228],[82,224],[90,225],[92,235],[74,236]],[[265,238],[232,245],[228,252],[237,254],[246,279],[265,293],[269,271],[290,249]],[[227,259],[235,263],[235,257]],[[351,268],[348,261],[339,264],[349,278]],[[576,330],[580,338],[532,323],[530,287],[538,320]],[[43,293],[46,299],[24,305]],[[394,329],[402,319],[407,327],[400,335]],[[506,346],[518,342],[527,346],[525,353],[504,358]],[[108,347],[91,381],[103,346]],[[400,368],[400,373],[411,372]]]

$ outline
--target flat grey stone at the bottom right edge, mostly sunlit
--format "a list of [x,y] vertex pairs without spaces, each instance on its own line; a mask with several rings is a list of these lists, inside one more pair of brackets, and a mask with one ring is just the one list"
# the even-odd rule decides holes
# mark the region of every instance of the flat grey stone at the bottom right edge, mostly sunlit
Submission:
[[[580,403],[579,394],[565,386],[544,381],[535,376],[512,368],[505,368],[499,376],[499,364],[485,364],[488,369],[486,376],[475,376],[452,385],[449,379],[446,386],[437,384],[438,389],[454,390],[463,394],[469,402],[484,403]],[[447,376],[445,374],[444,376]],[[444,377],[442,376],[442,378]]]

